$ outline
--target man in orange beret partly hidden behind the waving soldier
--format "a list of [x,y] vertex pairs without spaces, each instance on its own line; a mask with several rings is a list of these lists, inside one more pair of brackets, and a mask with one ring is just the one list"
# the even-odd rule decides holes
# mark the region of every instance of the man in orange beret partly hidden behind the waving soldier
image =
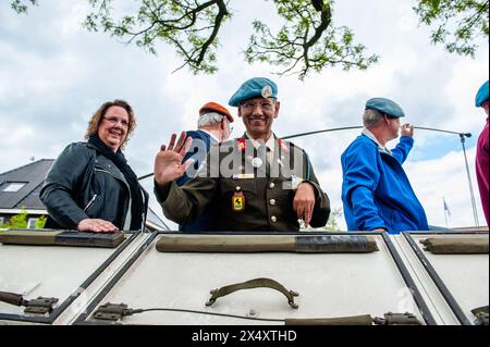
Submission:
[[[183,160],[185,162],[192,158],[194,165],[175,181],[179,186],[183,186],[195,176],[212,145],[222,142],[230,137],[230,124],[233,121],[230,111],[219,103],[208,102],[200,108],[197,131],[186,132],[187,136],[193,139],[193,142]],[[207,232],[216,230],[218,220],[216,214],[217,212],[212,209],[207,209],[196,221],[179,225],[179,230],[182,232]]]

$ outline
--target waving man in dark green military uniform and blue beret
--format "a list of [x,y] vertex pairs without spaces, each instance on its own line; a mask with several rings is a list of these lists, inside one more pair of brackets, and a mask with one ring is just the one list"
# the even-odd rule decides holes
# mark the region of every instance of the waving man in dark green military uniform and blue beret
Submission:
[[238,108],[246,133],[211,147],[198,176],[179,187],[174,179],[192,164],[182,159],[191,140],[173,134],[155,160],[155,193],[166,216],[188,223],[208,207],[220,211],[219,231],[298,231],[321,227],[330,201],[315,176],[307,153],[279,139],[272,123],[279,116],[278,87],[267,78],[245,82],[230,99]]

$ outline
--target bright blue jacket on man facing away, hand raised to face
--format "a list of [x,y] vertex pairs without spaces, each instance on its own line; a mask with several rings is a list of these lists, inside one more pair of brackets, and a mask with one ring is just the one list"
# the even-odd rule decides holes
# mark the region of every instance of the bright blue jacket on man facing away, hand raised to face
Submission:
[[426,212],[402,168],[413,146],[412,137],[402,136],[390,156],[363,134],[342,154],[342,201],[350,231],[429,230]]

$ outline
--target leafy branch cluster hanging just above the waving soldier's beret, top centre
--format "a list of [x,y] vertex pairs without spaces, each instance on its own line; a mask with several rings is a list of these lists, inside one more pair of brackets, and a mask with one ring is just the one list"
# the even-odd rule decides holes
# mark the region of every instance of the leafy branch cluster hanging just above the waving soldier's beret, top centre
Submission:
[[267,24],[254,22],[256,34],[245,51],[248,63],[258,60],[283,66],[280,75],[292,73],[304,79],[309,72],[321,72],[327,66],[366,70],[378,61],[378,55],[365,55],[365,46],[354,44],[350,28],[332,26],[333,1],[323,2],[321,11],[310,0],[273,2],[284,25],[279,33],[272,33]]

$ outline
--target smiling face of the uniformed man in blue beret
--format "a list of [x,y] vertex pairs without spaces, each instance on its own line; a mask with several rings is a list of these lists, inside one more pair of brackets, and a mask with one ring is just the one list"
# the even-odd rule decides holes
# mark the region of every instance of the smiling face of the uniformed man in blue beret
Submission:
[[273,120],[279,115],[279,101],[272,98],[250,99],[240,104],[238,116],[254,139],[267,140],[271,135]]

